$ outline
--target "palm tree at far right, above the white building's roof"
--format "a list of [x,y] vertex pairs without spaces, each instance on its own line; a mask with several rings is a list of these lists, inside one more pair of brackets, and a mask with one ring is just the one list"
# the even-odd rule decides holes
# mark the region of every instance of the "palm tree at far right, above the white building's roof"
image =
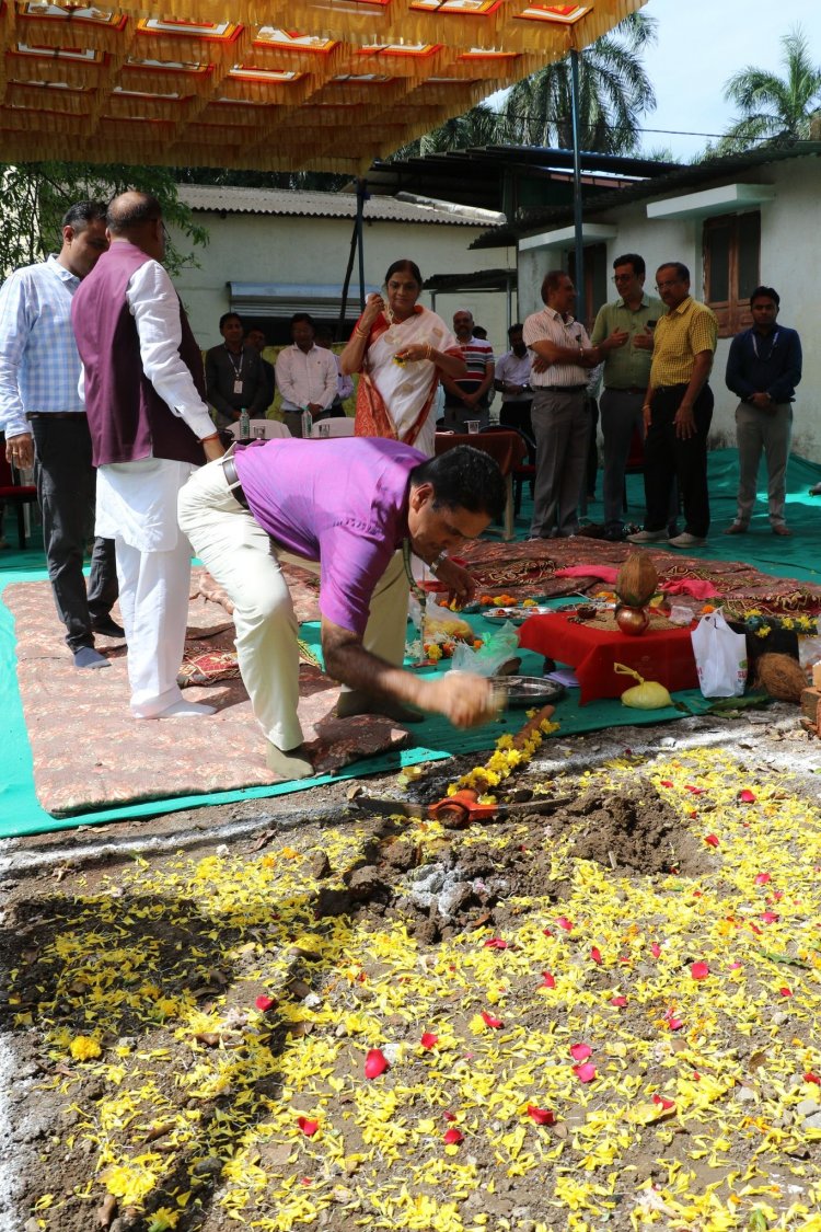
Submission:
[[720,153],[748,149],[758,142],[805,140],[812,116],[821,108],[821,68],[810,59],[800,26],[784,34],[783,78],[748,65],[734,74],[724,97],[742,112],[721,138]]

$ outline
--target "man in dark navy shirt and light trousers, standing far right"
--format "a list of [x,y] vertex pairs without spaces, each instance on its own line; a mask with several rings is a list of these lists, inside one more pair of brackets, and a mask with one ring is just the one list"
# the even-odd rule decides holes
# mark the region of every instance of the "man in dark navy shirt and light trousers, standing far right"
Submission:
[[793,429],[793,399],[801,379],[801,340],[778,325],[779,296],[756,287],[750,297],[752,329],[736,334],[727,356],[727,388],[739,394],[739,498],[735,521],[725,535],[742,535],[756,504],[762,450],[767,460],[767,496],[773,535],[791,535],[784,520],[787,460]]

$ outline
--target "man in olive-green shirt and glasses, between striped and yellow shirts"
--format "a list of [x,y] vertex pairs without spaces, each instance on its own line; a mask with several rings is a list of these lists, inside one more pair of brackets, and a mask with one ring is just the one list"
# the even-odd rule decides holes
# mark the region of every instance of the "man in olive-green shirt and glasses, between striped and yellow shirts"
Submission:
[[633,434],[644,439],[644,394],[650,379],[652,331],[665,312],[656,296],[644,290],[646,266],[638,253],[625,253],[613,261],[618,298],[602,304],[591,342],[598,346],[613,330],[625,335],[625,345],[613,347],[604,359],[604,389],[599,399],[604,437],[604,538],[624,538],[622,499],[624,472]]

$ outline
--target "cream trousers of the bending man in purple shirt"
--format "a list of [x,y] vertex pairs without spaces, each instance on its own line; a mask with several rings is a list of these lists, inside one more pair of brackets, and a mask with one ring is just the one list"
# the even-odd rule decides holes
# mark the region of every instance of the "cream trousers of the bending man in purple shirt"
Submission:
[[[321,444],[316,446],[321,448]],[[180,492],[180,526],[234,604],[236,653],[254,715],[279,749],[302,744],[298,625],[281,561],[319,573],[277,545],[231,495],[220,462],[209,462]],[[370,600],[363,644],[388,663],[405,655],[409,584],[395,552]]]

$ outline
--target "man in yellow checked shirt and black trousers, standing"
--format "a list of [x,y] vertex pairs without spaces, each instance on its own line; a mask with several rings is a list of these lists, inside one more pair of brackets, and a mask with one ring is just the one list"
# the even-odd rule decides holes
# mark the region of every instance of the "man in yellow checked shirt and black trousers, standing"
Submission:
[[689,270],[667,261],[656,271],[656,291],[667,312],[655,329],[650,381],[644,400],[644,530],[631,543],[667,540],[665,529],[673,484],[678,482],[686,526],[670,547],[707,542],[710,498],[707,487],[707,436],[713,420],[708,381],[718,340],[718,322],[689,293]]

